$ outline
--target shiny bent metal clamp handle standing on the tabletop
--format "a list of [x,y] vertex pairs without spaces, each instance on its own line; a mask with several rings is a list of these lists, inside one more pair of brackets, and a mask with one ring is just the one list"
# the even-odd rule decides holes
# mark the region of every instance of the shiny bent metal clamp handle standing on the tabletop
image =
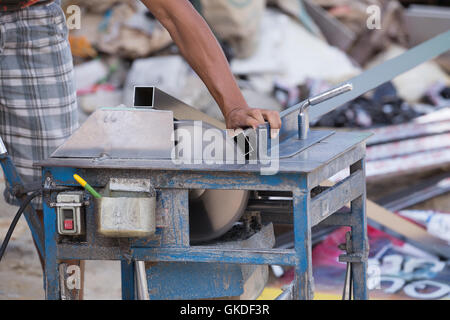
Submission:
[[309,132],[309,115],[308,108],[310,106],[317,105],[326,100],[334,98],[340,94],[353,90],[353,85],[351,83],[346,83],[340,87],[331,89],[324,93],[321,93],[313,98],[309,98],[303,102],[300,106],[298,113],[298,138],[300,140],[306,140],[308,138]]

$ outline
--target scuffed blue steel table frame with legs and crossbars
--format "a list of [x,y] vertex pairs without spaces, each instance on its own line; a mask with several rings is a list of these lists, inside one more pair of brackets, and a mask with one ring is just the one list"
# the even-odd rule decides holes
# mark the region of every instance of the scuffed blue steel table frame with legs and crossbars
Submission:
[[[86,238],[79,242],[61,241],[57,233],[55,208],[44,198],[45,289],[47,299],[60,299],[59,261],[120,260],[122,297],[135,298],[133,261],[211,264],[251,264],[295,266],[294,299],[313,298],[311,228],[319,223],[350,226],[353,252],[341,261],[353,263],[355,299],[367,299],[367,221],[365,212],[365,140],[370,134],[335,133],[293,158],[280,160],[274,175],[261,175],[257,165],[174,165],[170,160],[125,161],[106,159],[49,159],[42,162],[44,181],[57,186],[73,186],[74,173],[97,188],[110,177],[150,179],[158,190],[157,203],[170,219],[159,226],[151,239],[105,239],[95,229],[94,201],[86,206]],[[311,198],[311,190],[337,172],[350,175]],[[294,226],[294,249],[225,249],[193,246],[189,242],[189,189],[242,189],[292,192],[293,213],[280,217]],[[350,213],[336,212],[351,203]],[[91,214],[90,214],[91,213]],[[151,281],[151,280],[149,280]],[[186,288],[179,288],[183,292]],[[224,291],[226,295],[226,291]],[[205,293],[215,295],[217,293]],[[224,296],[222,295],[222,296]],[[220,296],[220,295],[219,295]],[[159,292],[157,298],[165,299]]]

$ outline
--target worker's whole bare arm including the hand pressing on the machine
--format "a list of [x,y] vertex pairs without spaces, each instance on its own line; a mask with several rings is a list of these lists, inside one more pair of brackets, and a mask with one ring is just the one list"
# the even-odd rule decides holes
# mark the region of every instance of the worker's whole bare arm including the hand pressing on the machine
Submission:
[[142,0],[169,31],[181,54],[199,75],[219,105],[227,128],[256,128],[267,120],[279,129],[278,112],[250,108],[231,73],[209,26],[187,0]]

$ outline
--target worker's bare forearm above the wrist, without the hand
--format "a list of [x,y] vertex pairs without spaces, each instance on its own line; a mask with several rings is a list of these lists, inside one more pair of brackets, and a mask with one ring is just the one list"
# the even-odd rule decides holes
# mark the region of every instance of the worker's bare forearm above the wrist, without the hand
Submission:
[[168,2],[158,6],[158,1],[143,1],[169,31],[181,54],[205,83],[224,116],[234,108],[248,107],[220,45],[203,18],[188,1],[175,1],[173,6]]

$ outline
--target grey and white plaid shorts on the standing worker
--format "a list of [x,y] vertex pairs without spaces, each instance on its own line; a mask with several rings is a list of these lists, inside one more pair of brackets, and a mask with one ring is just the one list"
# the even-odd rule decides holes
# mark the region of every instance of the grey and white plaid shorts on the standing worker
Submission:
[[[78,128],[67,37],[57,3],[0,13],[0,136],[24,183],[41,179],[33,162]],[[14,203],[7,191],[5,197]]]

